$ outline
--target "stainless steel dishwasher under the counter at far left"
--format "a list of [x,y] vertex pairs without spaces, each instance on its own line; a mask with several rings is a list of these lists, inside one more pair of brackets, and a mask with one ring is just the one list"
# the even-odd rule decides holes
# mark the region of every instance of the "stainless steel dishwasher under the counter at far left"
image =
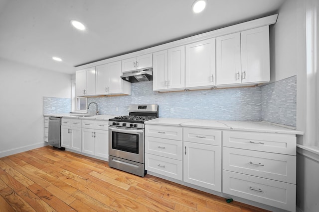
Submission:
[[61,147],[61,118],[49,117],[49,133],[48,133],[49,145],[65,150]]

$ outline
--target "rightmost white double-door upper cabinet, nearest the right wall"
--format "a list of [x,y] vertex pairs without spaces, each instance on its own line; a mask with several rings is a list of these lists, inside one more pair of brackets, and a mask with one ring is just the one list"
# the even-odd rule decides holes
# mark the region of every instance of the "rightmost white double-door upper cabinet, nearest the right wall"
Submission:
[[216,38],[216,84],[270,80],[269,26]]

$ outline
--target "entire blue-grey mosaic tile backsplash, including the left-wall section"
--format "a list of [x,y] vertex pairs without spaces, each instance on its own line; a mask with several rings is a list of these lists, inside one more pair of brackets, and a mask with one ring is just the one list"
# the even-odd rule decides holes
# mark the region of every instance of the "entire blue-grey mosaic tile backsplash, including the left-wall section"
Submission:
[[[128,115],[130,104],[158,104],[162,118],[263,120],[296,127],[296,76],[260,87],[188,92],[155,92],[153,81],[131,86],[131,95],[90,97],[88,103],[96,102],[102,115]],[[174,108],[174,113],[170,113],[170,108]],[[44,113],[68,113],[70,110],[70,99],[43,97]],[[94,114],[95,110],[95,105],[91,105],[89,113]]]

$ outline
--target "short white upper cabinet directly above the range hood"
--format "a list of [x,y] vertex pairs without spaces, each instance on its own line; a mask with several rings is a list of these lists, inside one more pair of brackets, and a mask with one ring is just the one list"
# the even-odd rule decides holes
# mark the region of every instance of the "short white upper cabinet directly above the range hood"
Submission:
[[153,54],[122,60],[122,72],[153,67]]

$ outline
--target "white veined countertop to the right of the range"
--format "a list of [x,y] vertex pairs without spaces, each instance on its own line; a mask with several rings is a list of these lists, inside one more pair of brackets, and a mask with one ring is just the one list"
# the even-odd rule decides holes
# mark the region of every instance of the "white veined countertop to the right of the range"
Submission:
[[201,120],[201,119],[170,119],[157,118],[145,122],[150,125],[167,125],[180,127],[196,127],[208,128],[216,130],[234,130],[234,131],[249,131],[259,133],[283,133],[304,135],[301,131],[296,131],[283,126],[277,126],[267,122],[249,122],[249,121],[218,121],[218,120]]

